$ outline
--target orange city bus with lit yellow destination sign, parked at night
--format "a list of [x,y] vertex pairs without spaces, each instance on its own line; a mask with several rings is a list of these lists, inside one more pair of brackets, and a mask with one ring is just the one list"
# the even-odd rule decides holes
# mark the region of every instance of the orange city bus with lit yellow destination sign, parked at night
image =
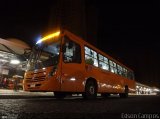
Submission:
[[54,92],[56,98],[81,93],[86,99],[135,92],[130,68],[62,30],[40,39],[33,47],[24,76],[25,91]]

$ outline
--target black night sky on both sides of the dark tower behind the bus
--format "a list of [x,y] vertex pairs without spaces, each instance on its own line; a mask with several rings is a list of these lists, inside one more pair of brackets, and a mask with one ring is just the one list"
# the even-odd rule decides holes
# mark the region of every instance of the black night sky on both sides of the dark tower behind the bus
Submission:
[[[56,2],[1,1],[0,38],[35,43],[47,31]],[[95,12],[97,47],[133,69],[138,82],[160,87],[159,2],[88,0],[86,7]]]

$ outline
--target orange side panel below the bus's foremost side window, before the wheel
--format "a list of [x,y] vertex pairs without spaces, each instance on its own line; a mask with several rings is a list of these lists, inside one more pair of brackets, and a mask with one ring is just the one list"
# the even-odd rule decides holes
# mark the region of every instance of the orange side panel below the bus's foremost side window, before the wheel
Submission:
[[84,91],[84,67],[82,64],[62,63],[62,84],[61,91],[64,92],[83,92]]

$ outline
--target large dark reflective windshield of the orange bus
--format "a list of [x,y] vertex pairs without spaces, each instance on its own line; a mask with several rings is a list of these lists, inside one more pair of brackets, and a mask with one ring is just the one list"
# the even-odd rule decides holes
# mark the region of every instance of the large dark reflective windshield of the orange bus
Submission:
[[60,41],[37,44],[30,54],[27,71],[56,67],[59,62]]

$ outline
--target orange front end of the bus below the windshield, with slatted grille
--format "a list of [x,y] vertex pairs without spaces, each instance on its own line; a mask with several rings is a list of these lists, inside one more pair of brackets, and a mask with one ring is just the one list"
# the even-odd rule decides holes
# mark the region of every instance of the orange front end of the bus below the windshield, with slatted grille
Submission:
[[[25,91],[59,91],[60,90],[60,72],[57,71],[54,76],[49,76],[52,67],[45,70],[28,71],[25,73],[24,90]],[[41,80],[43,77],[43,80]]]

